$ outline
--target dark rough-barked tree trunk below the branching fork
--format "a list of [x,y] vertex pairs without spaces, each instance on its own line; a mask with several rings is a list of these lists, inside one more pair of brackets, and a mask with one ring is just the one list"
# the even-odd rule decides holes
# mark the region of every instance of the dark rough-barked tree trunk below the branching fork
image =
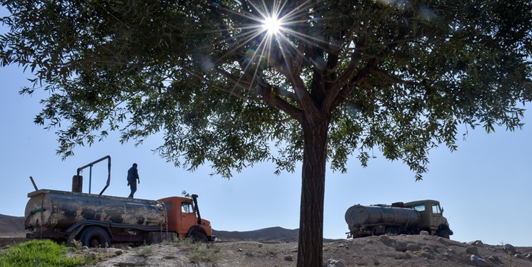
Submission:
[[328,122],[325,117],[302,122],[304,148],[298,267],[323,266],[323,199]]

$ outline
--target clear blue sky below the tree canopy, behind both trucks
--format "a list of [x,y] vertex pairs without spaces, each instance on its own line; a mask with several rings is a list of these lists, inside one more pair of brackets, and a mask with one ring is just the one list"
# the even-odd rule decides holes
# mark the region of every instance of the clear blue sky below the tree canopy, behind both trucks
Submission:
[[[4,14],[0,9],[0,16]],[[201,215],[211,220],[214,229],[298,228],[301,169],[276,176],[273,164],[256,164],[230,180],[210,177],[209,166],[187,172],[151,152],[162,142],[156,135],[140,147],[120,145],[116,135],[111,135],[93,147],[76,148],[74,157],[61,161],[55,153],[54,132],[33,123],[41,109],[39,100],[46,95],[18,94],[30,84],[27,77],[29,73],[16,66],[0,68],[0,214],[24,216],[27,193],[34,190],[29,176],[39,189],[69,191],[78,167],[110,155],[111,186],[106,194],[127,197],[126,171],[137,162],[141,177],[137,198],[160,199],[186,190],[199,194]],[[466,127],[459,127],[458,151],[451,153],[446,147],[431,151],[430,172],[421,182],[414,182],[405,164],[388,162],[378,152],[378,159],[371,160],[366,169],[353,157],[347,174],[327,173],[324,236],[346,237],[343,216],[353,204],[436,199],[455,233],[451,239],[532,246],[532,112],[527,111],[525,117],[528,123],[523,130],[496,128],[488,135],[478,128],[469,131],[466,142],[461,140]],[[83,175],[87,192],[89,169]],[[93,168],[93,193],[103,189],[106,176],[106,163]]]

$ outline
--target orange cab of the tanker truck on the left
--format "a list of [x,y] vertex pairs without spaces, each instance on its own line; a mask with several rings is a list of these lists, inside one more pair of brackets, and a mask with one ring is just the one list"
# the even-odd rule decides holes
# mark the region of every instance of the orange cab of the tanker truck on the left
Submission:
[[198,207],[198,196],[166,197],[159,199],[164,203],[168,218],[168,231],[173,231],[179,237],[190,237],[198,241],[214,241],[211,221],[201,219]]

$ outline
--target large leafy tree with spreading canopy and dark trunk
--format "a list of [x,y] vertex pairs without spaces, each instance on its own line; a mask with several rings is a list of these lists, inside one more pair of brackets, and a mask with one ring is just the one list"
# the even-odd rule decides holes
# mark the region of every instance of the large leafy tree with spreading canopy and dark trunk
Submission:
[[532,98],[526,0],[0,3],[1,63],[49,92],[35,122],[63,157],[117,130],[223,177],[302,162],[298,266],[323,264],[327,163],[378,150],[418,180],[458,125],[514,130]]

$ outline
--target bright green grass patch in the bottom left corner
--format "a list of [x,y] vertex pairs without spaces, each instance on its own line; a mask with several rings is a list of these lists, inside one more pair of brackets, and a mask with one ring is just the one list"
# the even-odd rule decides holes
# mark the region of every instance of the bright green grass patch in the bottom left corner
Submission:
[[68,256],[64,245],[53,241],[28,241],[11,246],[0,254],[1,267],[21,266],[82,266],[94,264],[86,256]]

